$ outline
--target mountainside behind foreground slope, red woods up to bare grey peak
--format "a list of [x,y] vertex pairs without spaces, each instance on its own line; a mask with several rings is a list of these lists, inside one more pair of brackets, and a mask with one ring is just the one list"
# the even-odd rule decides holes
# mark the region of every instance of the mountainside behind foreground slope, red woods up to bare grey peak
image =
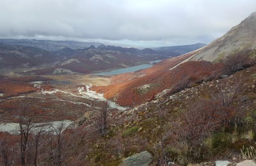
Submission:
[[[227,56],[239,54],[241,56],[243,54],[255,56],[255,31],[256,13],[252,13],[241,24],[228,31],[227,34],[201,49],[165,60],[146,70],[114,76],[111,78],[112,85],[96,87],[95,89],[104,93],[106,98],[120,103],[120,105],[134,106],[152,100],[157,93],[166,88],[174,88],[184,80],[191,83],[219,77],[218,70],[220,70],[222,64],[217,62],[225,61]],[[205,62],[188,63],[189,61],[214,61],[215,64]],[[209,69],[207,65],[212,66],[212,68]],[[214,72],[214,74],[211,72]],[[116,80],[122,80],[122,82]]]

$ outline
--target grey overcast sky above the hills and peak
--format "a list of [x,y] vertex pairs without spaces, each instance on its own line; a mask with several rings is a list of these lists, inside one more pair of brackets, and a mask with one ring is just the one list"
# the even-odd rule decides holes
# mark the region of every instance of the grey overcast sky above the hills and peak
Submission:
[[253,11],[255,0],[0,0],[0,38],[209,43]]

